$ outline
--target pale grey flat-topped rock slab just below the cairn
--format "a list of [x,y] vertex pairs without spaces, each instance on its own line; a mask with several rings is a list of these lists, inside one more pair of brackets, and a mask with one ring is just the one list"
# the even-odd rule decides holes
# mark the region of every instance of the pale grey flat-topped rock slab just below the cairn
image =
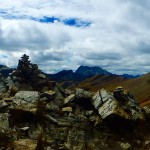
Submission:
[[39,92],[37,91],[19,91],[15,94],[16,99],[21,99],[29,103],[39,99]]

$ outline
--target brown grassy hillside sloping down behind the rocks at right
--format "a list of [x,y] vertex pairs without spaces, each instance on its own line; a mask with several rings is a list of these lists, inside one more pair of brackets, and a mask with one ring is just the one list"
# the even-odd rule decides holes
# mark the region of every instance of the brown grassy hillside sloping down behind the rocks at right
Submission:
[[96,75],[78,85],[78,87],[90,91],[97,91],[101,88],[113,91],[117,86],[123,86],[130,90],[139,101],[148,100],[150,98],[150,73],[134,79],[117,75]]

